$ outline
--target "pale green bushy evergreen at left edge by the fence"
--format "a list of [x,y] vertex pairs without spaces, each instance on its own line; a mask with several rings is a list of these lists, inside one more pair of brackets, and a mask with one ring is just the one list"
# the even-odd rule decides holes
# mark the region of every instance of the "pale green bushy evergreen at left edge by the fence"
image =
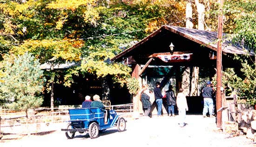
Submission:
[[40,107],[45,80],[39,60],[35,60],[31,53],[19,55],[14,60],[5,60],[1,73],[0,99],[12,101],[7,107],[15,110]]

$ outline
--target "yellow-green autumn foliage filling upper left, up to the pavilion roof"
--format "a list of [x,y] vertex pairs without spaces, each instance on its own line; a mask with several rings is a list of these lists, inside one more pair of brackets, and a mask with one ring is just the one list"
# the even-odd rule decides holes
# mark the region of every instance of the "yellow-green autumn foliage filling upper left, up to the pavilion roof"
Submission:
[[184,14],[179,11],[185,10],[184,4],[175,0],[135,0],[131,3],[121,0],[109,3],[94,0],[28,0],[20,3],[6,0],[0,5],[0,21],[3,22],[0,23],[0,33],[9,36],[7,40],[12,43],[5,42],[4,45],[9,47],[2,47],[5,47],[4,53],[33,53],[41,64],[81,62],[81,68],[62,73],[52,71],[55,72],[51,74],[54,79],[60,76],[57,74],[64,74],[65,86],[70,86],[72,75],[80,71],[98,77],[112,74],[113,80],[123,86],[130,69],[121,64],[107,64],[106,60],[167,21],[182,20]]

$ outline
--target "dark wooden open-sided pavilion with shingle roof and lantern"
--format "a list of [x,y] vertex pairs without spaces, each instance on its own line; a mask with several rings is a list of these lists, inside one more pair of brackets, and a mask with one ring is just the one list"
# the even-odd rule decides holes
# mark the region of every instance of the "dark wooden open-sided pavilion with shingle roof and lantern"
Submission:
[[[240,68],[233,57],[235,54],[246,54],[245,50],[238,44],[232,44],[228,34],[222,36],[222,67]],[[179,88],[179,77],[187,67],[211,67],[214,71],[216,53],[216,32],[164,25],[111,60],[130,65],[132,76],[140,81],[140,86],[143,84],[141,75],[149,66],[170,67],[161,85],[164,86],[170,77],[175,76],[176,87]],[[139,94],[134,96],[133,105],[135,113],[141,112]]]

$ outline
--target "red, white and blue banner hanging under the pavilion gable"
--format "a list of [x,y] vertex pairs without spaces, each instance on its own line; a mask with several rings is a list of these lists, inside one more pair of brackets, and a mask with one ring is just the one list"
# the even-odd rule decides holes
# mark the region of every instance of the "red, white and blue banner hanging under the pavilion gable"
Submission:
[[164,62],[181,62],[189,61],[192,58],[193,53],[183,53],[183,54],[168,54],[168,55],[157,55],[156,57]]

